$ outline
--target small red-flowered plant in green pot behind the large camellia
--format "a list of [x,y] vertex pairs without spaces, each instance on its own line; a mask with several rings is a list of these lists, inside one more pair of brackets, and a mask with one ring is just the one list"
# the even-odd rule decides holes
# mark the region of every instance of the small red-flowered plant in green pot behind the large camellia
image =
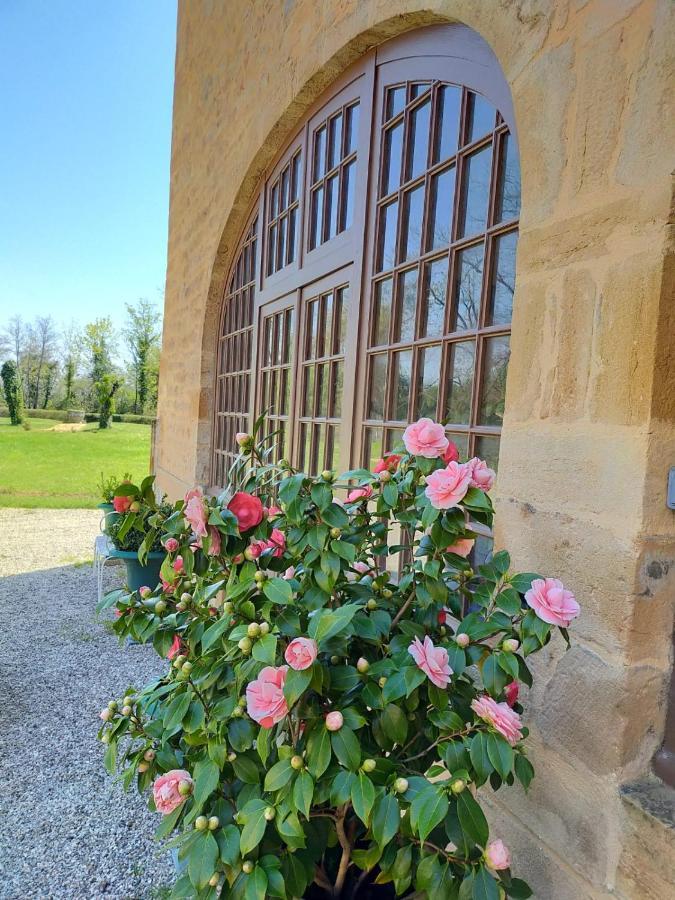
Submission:
[[156,501],[154,481],[154,475],[144,478],[140,486],[122,481],[113,491],[114,512],[106,514],[106,531],[113,544],[109,554],[124,560],[131,591],[157,585],[166,556],[161,535],[172,507],[165,500]]

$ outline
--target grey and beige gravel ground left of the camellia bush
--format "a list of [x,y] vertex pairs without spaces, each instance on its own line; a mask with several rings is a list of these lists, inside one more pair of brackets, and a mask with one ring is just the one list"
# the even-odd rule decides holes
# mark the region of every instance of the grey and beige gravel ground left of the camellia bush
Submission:
[[1,898],[159,900],[173,880],[158,817],[106,775],[96,740],[108,700],[163,669],[96,616],[99,518],[0,509]]

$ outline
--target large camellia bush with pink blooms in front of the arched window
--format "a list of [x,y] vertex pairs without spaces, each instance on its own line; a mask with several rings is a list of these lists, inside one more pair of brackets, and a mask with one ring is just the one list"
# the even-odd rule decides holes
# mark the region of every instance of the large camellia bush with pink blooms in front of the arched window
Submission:
[[494,472],[441,425],[337,480],[238,440],[228,492],[164,519],[161,585],[104,601],[170,659],[100,737],[163,816],[172,896],[529,897],[481,796],[530,784],[519,691],[574,596],[504,551],[474,569]]

